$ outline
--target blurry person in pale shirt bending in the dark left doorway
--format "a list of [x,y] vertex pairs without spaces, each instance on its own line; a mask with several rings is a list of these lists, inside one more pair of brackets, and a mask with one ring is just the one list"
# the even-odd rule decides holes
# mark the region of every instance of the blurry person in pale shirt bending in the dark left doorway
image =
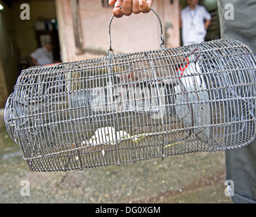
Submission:
[[35,52],[30,54],[33,65],[47,65],[54,63],[52,54],[52,44],[47,43],[44,47],[39,47]]

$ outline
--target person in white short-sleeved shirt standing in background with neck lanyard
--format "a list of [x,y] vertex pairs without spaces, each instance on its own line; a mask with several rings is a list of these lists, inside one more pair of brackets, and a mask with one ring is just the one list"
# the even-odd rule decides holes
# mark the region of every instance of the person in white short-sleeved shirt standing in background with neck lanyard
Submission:
[[183,45],[204,42],[211,16],[199,0],[187,0],[187,7],[180,12]]

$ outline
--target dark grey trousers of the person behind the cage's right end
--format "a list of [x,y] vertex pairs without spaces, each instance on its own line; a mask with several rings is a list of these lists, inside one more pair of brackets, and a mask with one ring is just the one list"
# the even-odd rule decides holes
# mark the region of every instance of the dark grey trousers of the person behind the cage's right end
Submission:
[[[238,39],[256,54],[256,0],[219,0],[218,7],[221,37]],[[234,203],[256,203],[256,140],[225,154],[227,180],[234,182]]]

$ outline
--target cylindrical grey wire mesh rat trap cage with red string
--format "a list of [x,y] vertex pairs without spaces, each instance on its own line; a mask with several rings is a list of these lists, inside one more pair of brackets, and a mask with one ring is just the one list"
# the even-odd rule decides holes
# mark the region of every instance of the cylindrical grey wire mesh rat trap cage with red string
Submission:
[[235,39],[133,54],[110,44],[103,58],[22,71],[5,125],[32,171],[234,149],[255,138],[255,72]]

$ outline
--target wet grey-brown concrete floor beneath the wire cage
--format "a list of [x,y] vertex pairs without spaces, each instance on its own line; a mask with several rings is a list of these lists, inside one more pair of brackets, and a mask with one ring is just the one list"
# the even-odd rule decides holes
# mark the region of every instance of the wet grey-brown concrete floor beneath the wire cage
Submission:
[[[0,203],[232,203],[224,193],[224,154],[30,172],[20,147],[7,134],[0,110]],[[29,186],[29,191],[23,186]],[[22,196],[24,192],[29,196]]]

